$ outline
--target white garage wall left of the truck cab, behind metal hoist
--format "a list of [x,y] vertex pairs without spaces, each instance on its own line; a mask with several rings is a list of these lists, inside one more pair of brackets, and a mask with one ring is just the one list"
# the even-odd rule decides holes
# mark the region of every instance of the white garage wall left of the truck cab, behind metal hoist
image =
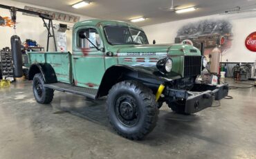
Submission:
[[[45,10],[52,10],[56,12],[63,12],[60,10],[53,10],[51,8],[43,8],[41,6],[35,6],[30,5],[27,3],[19,3],[17,1],[10,1],[10,0],[0,0],[0,3],[6,6],[15,6],[17,8],[24,8],[24,6],[33,6],[35,8],[42,8]],[[63,12],[69,15],[76,15],[71,12]],[[10,17],[9,10],[0,8],[0,16],[1,17]],[[86,17],[83,15],[77,15],[80,16],[80,21],[86,20],[86,19],[93,19],[91,17]],[[66,23],[63,21],[53,21],[53,24],[67,24],[68,26],[73,26],[74,24]],[[44,27],[44,23],[41,18],[39,17],[31,17],[22,15],[22,12],[17,12],[17,35],[21,38],[21,41],[25,41],[26,39],[33,39],[37,41],[38,44],[45,47],[46,50],[46,44],[47,44],[47,30]],[[0,26],[0,48],[9,46],[10,47],[10,37],[14,35],[15,32],[13,28],[10,27],[3,27]],[[66,40],[67,40],[67,50],[72,49],[72,30],[66,31]],[[50,49],[51,51],[54,50],[54,44],[53,44],[53,38],[50,38]]]

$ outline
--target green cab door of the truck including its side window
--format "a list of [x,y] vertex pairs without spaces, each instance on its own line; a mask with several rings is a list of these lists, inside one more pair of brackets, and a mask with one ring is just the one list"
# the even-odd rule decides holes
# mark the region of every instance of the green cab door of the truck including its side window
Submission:
[[[97,89],[104,75],[103,42],[97,28],[90,26],[75,29],[73,35],[73,79],[75,86]],[[81,35],[85,35],[91,42]]]

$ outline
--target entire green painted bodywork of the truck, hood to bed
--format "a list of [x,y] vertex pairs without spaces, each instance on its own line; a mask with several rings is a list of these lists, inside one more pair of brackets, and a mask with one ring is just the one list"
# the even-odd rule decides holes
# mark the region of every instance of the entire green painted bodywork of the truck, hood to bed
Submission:
[[[111,45],[104,35],[104,26],[129,26],[142,30],[138,26],[122,21],[104,21],[100,19],[80,21],[73,26],[73,51],[71,53],[28,53],[28,61],[33,63],[47,62],[53,66],[60,82],[74,83],[76,86],[98,88],[107,68],[116,64],[134,66],[156,70],[156,62],[164,57],[173,61],[172,72],[167,78],[183,77],[184,56],[201,56],[199,49],[185,44],[158,44],[158,45]],[[77,31],[84,28],[95,28],[102,40],[101,48],[104,53],[95,48],[86,50],[77,48]],[[143,30],[142,30],[143,31]],[[190,50],[196,50],[196,53]],[[113,56],[107,56],[112,53]]]

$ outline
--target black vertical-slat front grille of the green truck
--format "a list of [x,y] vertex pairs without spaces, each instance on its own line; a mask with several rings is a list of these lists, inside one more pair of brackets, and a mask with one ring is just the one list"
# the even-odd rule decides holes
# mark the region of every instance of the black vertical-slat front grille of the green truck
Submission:
[[201,74],[201,56],[184,57],[184,77],[192,77]]

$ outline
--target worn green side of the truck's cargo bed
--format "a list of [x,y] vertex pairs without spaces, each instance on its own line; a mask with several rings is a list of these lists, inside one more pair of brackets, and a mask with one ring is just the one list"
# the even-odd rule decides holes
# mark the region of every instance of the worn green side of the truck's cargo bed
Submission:
[[69,52],[28,52],[28,64],[48,63],[53,66],[58,82],[71,83],[72,62]]

